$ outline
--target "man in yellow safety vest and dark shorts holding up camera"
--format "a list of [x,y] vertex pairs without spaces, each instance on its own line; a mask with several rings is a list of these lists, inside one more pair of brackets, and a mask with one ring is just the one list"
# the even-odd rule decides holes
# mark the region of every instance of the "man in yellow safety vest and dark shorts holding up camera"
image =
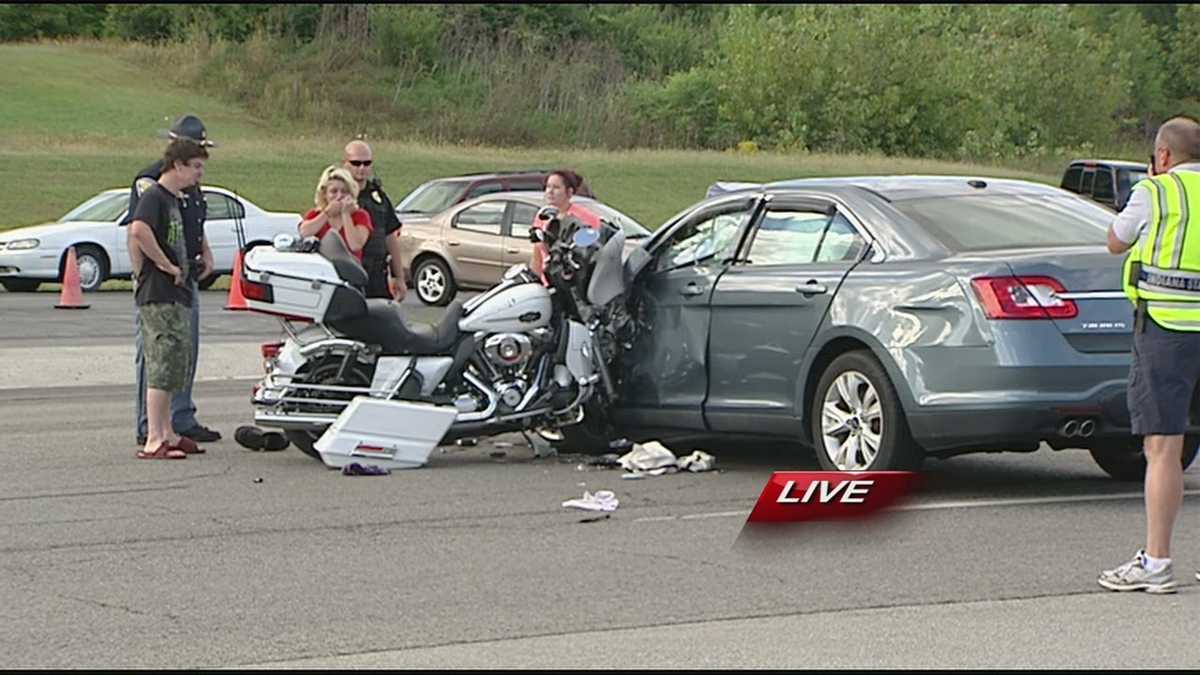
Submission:
[[1144,436],[1146,455],[1146,548],[1102,572],[1099,584],[1171,593],[1183,435],[1200,382],[1200,123],[1176,117],[1158,129],[1151,174],[1134,186],[1109,229],[1109,252],[1129,251],[1124,291],[1134,303],[1134,346],[1128,402],[1133,434]]

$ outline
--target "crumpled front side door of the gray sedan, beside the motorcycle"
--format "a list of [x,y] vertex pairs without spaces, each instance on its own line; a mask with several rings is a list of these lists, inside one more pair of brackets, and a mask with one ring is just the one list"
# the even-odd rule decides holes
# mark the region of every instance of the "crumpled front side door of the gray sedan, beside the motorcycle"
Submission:
[[685,216],[655,243],[631,293],[636,329],[623,360],[624,419],[706,428],[709,299],[760,202],[720,202]]

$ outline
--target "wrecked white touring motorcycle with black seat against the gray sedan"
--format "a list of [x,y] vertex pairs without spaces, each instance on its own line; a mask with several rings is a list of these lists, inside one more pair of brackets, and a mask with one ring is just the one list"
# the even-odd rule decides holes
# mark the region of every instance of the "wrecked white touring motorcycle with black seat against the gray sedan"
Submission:
[[[246,255],[242,295],[278,316],[287,340],[264,346],[266,376],[252,404],[259,426],[278,428],[306,454],[359,396],[455,411],[442,442],[534,430],[546,436],[604,411],[614,398],[610,364],[628,321],[620,227],[590,228],[544,209],[542,286],[526,265],[446,307],[438,324],[404,318],[400,304],[367,299],[367,275],[329,233]],[[287,241],[292,239],[292,241]],[[294,322],[312,322],[296,329]]]

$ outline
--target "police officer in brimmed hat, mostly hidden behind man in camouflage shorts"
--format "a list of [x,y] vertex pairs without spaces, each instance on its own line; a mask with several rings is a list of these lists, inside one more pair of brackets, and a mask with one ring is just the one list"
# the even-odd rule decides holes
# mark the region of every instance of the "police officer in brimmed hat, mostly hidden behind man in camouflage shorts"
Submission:
[[[170,126],[170,130],[164,133],[164,136],[172,141],[178,138],[188,139],[205,148],[216,145],[216,143],[209,141],[204,124],[196,115],[180,117]],[[133,213],[137,210],[138,199],[142,197],[143,192],[155,185],[162,175],[162,160],[158,160],[142,169],[137,178],[133,179],[133,186],[130,189],[130,210],[127,211],[125,220],[121,221],[122,226],[128,226]],[[192,291],[192,360],[184,390],[173,395],[170,399],[170,423],[176,434],[197,442],[206,443],[220,441],[221,434],[204,426],[196,419],[196,402],[192,400],[192,382],[196,380],[196,359],[199,356],[200,339],[200,303],[198,283],[199,280],[212,274],[214,267],[212,251],[209,249],[209,240],[204,235],[204,219],[208,214],[208,207],[204,203],[204,195],[200,192],[199,185],[194,185],[184,191],[184,197],[179,203],[179,210],[184,220],[184,238],[187,244],[187,257],[191,263],[188,268],[193,270],[188,275],[188,280],[186,282]],[[145,345],[142,336],[142,313],[137,309],[134,309],[133,312],[133,328],[136,333],[134,345],[137,350],[133,364],[137,371],[138,384],[138,404],[137,413],[134,416],[134,431],[137,434],[138,444],[144,446],[146,440]]]

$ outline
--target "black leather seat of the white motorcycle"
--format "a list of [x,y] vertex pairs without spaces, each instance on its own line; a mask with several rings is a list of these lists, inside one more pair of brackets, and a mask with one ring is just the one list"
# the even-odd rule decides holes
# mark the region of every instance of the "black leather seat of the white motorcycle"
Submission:
[[449,356],[458,340],[460,301],[451,303],[436,324],[407,321],[402,306],[392,300],[372,298],[366,304],[366,316],[338,322],[335,328],[347,338],[379,345],[383,356]]

